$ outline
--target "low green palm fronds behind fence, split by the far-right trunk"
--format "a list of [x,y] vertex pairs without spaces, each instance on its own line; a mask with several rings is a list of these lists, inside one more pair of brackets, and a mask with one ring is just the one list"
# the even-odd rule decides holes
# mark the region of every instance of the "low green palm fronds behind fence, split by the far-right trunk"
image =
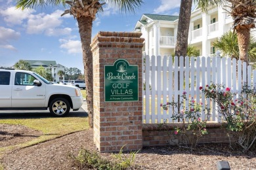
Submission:
[[[219,40],[213,42],[218,50],[223,52],[223,56],[230,56],[231,58],[239,59],[239,45],[238,45],[238,35],[232,31],[224,33]],[[248,48],[249,61],[255,61],[256,59],[256,41],[251,37],[249,39]]]

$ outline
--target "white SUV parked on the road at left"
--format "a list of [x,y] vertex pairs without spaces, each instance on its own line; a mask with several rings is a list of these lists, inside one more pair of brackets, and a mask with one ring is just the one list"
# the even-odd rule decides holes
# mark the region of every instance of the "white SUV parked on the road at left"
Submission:
[[0,69],[0,110],[47,110],[65,116],[79,110],[83,96],[79,88],[53,84],[37,73]]

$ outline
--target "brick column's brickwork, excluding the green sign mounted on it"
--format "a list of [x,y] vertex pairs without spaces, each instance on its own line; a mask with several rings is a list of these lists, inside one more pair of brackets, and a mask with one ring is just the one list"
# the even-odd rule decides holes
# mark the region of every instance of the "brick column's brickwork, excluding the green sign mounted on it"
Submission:
[[[93,52],[93,138],[100,152],[142,148],[142,42],[141,33],[99,32]],[[125,59],[138,65],[139,101],[105,102],[104,66]]]

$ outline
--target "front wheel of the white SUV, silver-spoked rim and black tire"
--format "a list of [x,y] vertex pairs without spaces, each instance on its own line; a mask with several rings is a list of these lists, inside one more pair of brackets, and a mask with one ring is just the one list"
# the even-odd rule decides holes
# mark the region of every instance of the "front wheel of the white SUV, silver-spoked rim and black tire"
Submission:
[[70,103],[68,100],[58,97],[51,101],[49,110],[53,116],[62,117],[70,112]]

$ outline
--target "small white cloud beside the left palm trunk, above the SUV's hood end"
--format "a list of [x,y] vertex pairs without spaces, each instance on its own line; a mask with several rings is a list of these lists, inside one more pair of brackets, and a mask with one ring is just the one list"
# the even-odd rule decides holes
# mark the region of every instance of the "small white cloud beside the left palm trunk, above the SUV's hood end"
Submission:
[[81,53],[81,41],[59,39],[60,48],[64,48],[68,51],[68,54]]

